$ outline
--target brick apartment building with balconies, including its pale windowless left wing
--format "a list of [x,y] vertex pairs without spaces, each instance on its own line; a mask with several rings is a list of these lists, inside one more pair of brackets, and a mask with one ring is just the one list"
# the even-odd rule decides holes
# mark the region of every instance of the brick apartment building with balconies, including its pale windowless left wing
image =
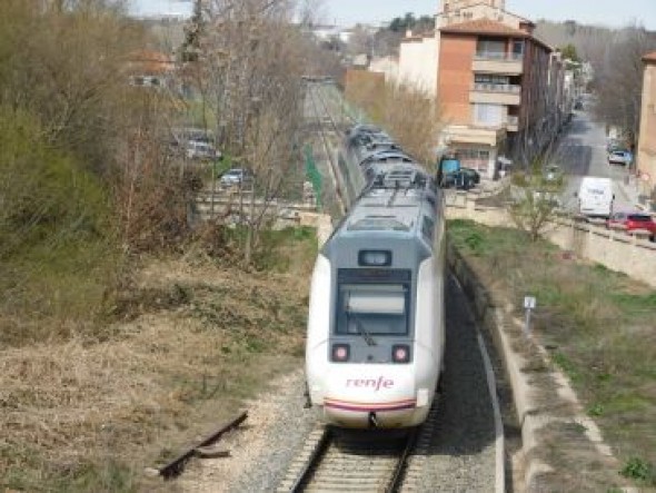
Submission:
[[560,55],[505,0],[441,0],[434,32],[401,42],[399,79],[426,89],[446,124],[438,146],[483,176],[531,162],[574,99]]

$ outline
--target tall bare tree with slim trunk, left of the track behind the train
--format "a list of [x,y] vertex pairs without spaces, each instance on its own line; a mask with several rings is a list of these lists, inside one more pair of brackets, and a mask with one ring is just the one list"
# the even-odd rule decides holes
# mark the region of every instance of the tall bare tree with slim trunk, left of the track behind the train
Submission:
[[291,183],[301,121],[301,32],[286,0],[212,0],[203,14],[197,63],[216,115],[217,142],[255,175],[254,194],[240,190],[246,227],[243,258],[251,262],[272,200]]

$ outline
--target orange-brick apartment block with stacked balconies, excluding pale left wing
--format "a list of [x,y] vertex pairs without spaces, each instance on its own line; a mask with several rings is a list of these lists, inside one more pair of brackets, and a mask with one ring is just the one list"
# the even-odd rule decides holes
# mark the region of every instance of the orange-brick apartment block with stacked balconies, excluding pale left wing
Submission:
[[530,162],[560,125],[561,62],[534,27],[499,10],[439,29],[444,142],[488,178],[499,158]]

